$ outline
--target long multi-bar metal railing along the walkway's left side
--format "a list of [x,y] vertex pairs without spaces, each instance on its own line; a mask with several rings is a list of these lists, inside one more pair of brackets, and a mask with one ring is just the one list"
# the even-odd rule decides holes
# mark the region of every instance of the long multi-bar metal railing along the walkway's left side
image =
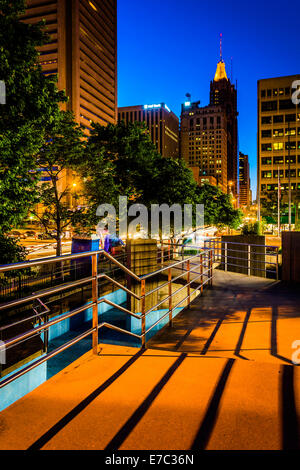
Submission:
[[[33,266],[39,266],[42,264],[48,264],[48,263],[61,263],[63,261],[67,260],[77,260],[80,258],[91,258],[92,260],[92,266],[91,266],[91,276],[85,277],[83,279],[79,279],[76,281],[71,281],[67,282],[66,284],[59,285],[59,286],[54,286],[49,289],[46,289],[44,291],[40,291],[38,293],[33,293],[27,297],[19,298],[16,300],[12,300],[9,302],[6,302],[4,304],[0,305],[0,312],[4,311],[6,309],[11,309],[13,307],[19,307],[22,306],[28,302],[34,302],[37,301],[41,305],[45,304],[43,303],[42,299],[51,295],[55,294],[58,292],[66,291],[70,288],[73,288],[75,286],[82,286],[84,284],[90,284],[92,285],[92,300],[91,302],[71,310],[70,312],[64,313],[60,315],[57,318],[54,318],[52,320],[48,320],[48,317],[44,318],[43,323],[39,323],[38,326],[35,328],[32,328],[22,334],[19,334],[13,338],[4,340],[0,348],[2,349],[7,349],[13,345],[16,345],[20,342],[23,342],[37,334],[46,334],[46,332],[49,331],[49,328],[51,326],[56,325],[66,319],[69,319],[71,317],[74,317],[78,314],[80,314],[83,311],[86,311],[90,308],[92,308],[92,328],[88,329],[84,333],[76,336],[73,338],[71,341],[65,343],[64,345],[56,348],[55,350],[51,352],[46,352],[45,355],[38,360],[34,361],[33,363],[24,366],[21,370],[17,371],[16,373],[13,373],[12,375],[8,376],[4,380],[0,382],[0,389],[3,388],[5,385],[13,382],[17,378],[23,376],[30,370],[38,367],[40,364],[48,361],[49,359],[55,357],[56,355],[60,354],[61,352],[65,351],[69,347],[73,346],[74,344],[78,343],[79,341],[83,340],[84,338],[88,336],[92,336],[92,350],[94,354],[98,354],[98,332],[101,328],[107,327],[112,330],[118,331],[120,333],[124,333],[130,336],[133,336],[135,338],[138,338],[141,340],[141,347],[145,348],[146,347],[146,335],[155,327],[157,326],[160,322],[162,322],[165,318],[169,318],[169,325],[172,325],[172,320],[173,320],[173,312],[175,309],[180,307],[184,302],[187,302],[187,305],[189,306],[191,303],[191,296],[194,295],[195,293],[198,292],[199,294],[203,293],[203,288],[206,284],[212,285],[213,282],[213,248],[205,249],[204,251],[198,250],[197,254],[189,257],[185,257],[182,255],[182,259],[172,262],[172,255],[170,249],[167,250],[167,252],[161,248],[161,251],[163,254],[160,255],[160,259],[165,260],[167,257],[167,261],[170,262],[167,266],[161,266],[159,269],[157,269],[154,272],[151,272],[149,274],[143,275],[143,276],[138,276],[135,274],[133,271],[128,269],[125,265],[120,263],[117,259],[115,259],[113,256],[111,256],[109,253],[106,253],[103,250],[99,251],[93,251],[93,252],[85,252],[85,253],[78,253],[78,254],[73,254],[73,255],[64,255],[60,257],[54,257],[54,258],[48,258],[48,259],[39,259],[39,260],[33,260],[33,261],[25,261],[21,263],[15,263],[12,265],[6,265],[6,266],[0,266],[0,273],[5,273],[13,270],[20,270],[20,269],[25,269]],[[107,273],[99,273],[98,269],[98,257],[99,255],[103,255],[106,259],[108,259],[114,266],[117,266],[119,269],[121,269],[129,278],[134,279],[137,283],[140,284],[140,295],[134,292],[131,289],[128,289],[125,287],[123,284],[119,283],[112,277],[110,277]],[[163,263],[163,262],[162,262]],[[182,272],[180,274],[177,274],[177,270],[181,270]],[[159,285],[158,287],[152,289],[151,291],[146,292],[146,285],[147,282],[155,277],[158,276],[159,274],[164,273],[164,275],[167,275],[167,282],[165,282],[162,285]],[[175,276],[174,276],[175,274]],[[179,289],[176,289],[173,291],[173,284],[179,279],[186,278],[185,281],[186,283],[180,287]],[[141,302],[141,312],[140,313],[134,313],[131,310],[121,306],[117,305],[116,303],[108,300],[107,298],[100,298],[99,299],[99,280],[100,279],[106,279],[112,284],[114,284],[116,287],[119,289],[124,290],[129,296],[134,297],[136,300]],[[193,289],[193,292],[191,292],[191,286],[192,284],[195,283],[195,281],[198,281],[198,286]],[[146,298],[153,294],[154,292],[157,292],[158,290],[168,287],[168,296],[164,298],[162,301],[158,302],[157,304],[151,306],[150,309],[146,310]],[[179,294],[182,292],[184,289],[187,289],[187,295],[181,299],[179,302],[176,303],[176,305],[173,304],[173,299],[176,294]],[[146,329],[146,317],[154,310],[158,309],[163,303],[168,302],[168,311],[162,315],[159,320],[157,320],[154,324],[152,324],[149,328]],[[121,312],[125,313],[126,315],[132,316],[136,319],[141,320],[141,334],[136,334],[131,331],[125,330],[123,328],[120,328],[116,325],[112,325],[108,322],[101,322],[99,323],[99,314],[98,314],[98,305],[101,303],[106,303]],[[47,309],[47,307],[45,306]],[[45,313],[45,312],[44,312]],[[46,314],[49,315],[48,309],[46,311]],[[35,317],[38,315],[38,313],[35,312]],[[0,350],[1,352],[1,350]]]

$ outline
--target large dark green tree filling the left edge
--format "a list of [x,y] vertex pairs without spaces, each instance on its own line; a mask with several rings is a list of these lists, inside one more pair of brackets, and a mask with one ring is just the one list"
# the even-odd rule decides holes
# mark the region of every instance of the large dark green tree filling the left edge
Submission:
[[0,105],[0,233],[16,226],[37,202],[35,156],[45,128],[55,119],[58,103],[56,77],[45,77],[36,47],[47,41],[42,23],[25,24],[24,0],[0,0],[0,79],[6,86],[6,104]]

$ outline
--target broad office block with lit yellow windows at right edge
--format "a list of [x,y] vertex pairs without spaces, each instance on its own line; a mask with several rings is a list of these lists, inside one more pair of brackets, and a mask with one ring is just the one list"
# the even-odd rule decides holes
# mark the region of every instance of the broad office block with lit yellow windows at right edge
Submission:
[[290,185],[292,223],[300,209],[300,106],[292,99],[297,80],[300,75],[263,79],[257,87],[258,203],[272,194],[276,198],[280,181],[282,213],[287,214]]

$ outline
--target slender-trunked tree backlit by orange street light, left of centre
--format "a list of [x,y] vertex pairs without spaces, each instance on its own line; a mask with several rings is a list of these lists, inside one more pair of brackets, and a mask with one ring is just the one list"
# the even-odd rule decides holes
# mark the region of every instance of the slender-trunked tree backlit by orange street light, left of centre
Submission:
[[[83,133],[73,115],[60,111],[55,121],[47,127],[46,143],[37,155],[39,169],[47,175],[48,181],[39,185],[38,199],[43,205],[41,212],[37,209],[32,211],[47,234],[54,231],[57,256],[62,254],[63,231],[68,225],[78,223],[82,213],[81,207],[78,207],[80,194],[72,194],[77,183],[66,172],[77,168],[83,148]],[[76,203],[73,207],[72,199]]]

